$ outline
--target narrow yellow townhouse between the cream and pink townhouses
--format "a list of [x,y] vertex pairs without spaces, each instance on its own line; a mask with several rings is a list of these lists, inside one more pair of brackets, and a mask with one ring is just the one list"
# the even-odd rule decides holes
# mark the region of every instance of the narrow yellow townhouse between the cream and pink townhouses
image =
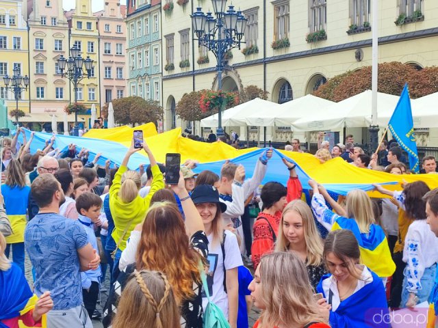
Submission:
[[[73,12],[66,12],[68,25],[70,27],[70,44],[77,46],[83,59],[90,57],[94,69],[90,78],[85,78],[78,83],[77,101],[81,102],[88,109],[94,104],[97,114],[100,113],[99,92],[99,31],[97,29],[97,18],[92,13],[91,0],[76,0],[76,7]],[[73,84],[70,83],[71,99],[75,100]]]

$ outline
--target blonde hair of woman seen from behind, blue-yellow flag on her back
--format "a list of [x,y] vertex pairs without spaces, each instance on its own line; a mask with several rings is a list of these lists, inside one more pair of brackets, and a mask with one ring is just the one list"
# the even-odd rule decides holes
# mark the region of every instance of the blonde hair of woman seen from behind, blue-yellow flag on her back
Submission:
[[372,223],[376,223],[370,197],[363,190],[354,189],[347,194],[345,209],[347,216],[356,220],[363,234],[368,234]]

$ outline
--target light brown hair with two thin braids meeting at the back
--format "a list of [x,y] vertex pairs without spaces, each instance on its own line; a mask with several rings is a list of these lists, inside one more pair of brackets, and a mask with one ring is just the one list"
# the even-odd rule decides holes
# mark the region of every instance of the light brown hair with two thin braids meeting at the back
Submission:
[[123,290],[112,327],[179,327],[179,307],[166,275],[135,271]]

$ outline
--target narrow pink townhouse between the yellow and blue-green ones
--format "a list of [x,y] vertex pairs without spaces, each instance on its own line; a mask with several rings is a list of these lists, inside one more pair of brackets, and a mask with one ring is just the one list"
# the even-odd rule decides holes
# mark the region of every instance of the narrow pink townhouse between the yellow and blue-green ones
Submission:
[[101,106],[126,96],[126,6],[120,0],[106,0],[105,8],[94,13],[99,30]]

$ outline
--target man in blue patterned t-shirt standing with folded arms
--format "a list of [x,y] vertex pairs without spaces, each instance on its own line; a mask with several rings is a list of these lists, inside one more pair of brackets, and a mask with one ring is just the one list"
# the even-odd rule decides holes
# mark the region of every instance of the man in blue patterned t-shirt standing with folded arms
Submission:
[[47,327],[92,328],[83,308],[80,271],[99,267],[99,255],[81,223],[59,214],[65,197],[52,174],[38,176],[31,194],[40,211],[26,227],[25,248],[36,272],[36,295],[49,290],[53,299]]

